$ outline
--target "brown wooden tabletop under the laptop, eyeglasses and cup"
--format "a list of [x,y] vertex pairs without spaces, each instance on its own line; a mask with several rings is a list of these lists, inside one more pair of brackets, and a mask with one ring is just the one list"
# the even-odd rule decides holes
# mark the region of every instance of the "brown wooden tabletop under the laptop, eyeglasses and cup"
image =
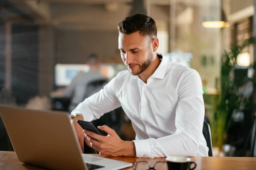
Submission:
[[[99,155],[95,155],[99,156]],[[164,161],[165,158],[134,158],[134,157],[108,157],[119,161],[136,162],[148,161],[154,165],[156,161]],[[255,170],[256,158],[249,157],[193,157],[197,163],[195,170]],[[41,168],[20,164],[15,152],[0,151],[0,170],[43,170]],[[132,170],[132,167],[125,170]]]

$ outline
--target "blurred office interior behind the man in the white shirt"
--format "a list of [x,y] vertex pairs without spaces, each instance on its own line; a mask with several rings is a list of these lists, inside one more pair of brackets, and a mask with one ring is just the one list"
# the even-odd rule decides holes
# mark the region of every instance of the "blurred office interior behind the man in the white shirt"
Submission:
[[[90,54],[108,80],[126,70],[117,24],[136,13],[156,21],[158,52],[199,72],[214,156],[256,156],[254,41],[232,53],[253,37],[253,0],[0,0],[0,104],[68,111],[63,91],[90,71]],[[108,115],[122,139],[134,139],[122,108]],[[0,150],[12,150],[1,119]]]

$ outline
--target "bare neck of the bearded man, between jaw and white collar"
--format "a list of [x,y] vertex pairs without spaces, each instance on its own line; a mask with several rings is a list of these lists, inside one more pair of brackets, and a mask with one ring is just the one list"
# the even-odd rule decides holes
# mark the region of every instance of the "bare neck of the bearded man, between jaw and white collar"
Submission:
[[141,74],[139,74],[140,79],[142,79],[143,82],[147,83],[148,78],[154,73],[154,71],[156,71],[157,67],[160,65],[160,62],[160,59],[155,53],[152,63]]

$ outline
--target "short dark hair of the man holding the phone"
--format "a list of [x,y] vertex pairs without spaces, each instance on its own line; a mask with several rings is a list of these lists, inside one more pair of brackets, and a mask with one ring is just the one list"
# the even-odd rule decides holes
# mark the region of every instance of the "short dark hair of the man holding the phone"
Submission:
[[155,21],[145,14],[134,14],[126,17],[118,24],[118,31],[122,34],[132,34],[140,31],[140,34],[157,37],[157,25]]

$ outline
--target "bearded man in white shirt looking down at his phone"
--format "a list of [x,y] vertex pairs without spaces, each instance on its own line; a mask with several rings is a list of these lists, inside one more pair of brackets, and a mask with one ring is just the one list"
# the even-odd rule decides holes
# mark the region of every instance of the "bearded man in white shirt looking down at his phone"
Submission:
[[[126,17],[118,30],[119,49],[128,71],[120,72],[72,112],[81,147],[85,133],[87,145],[102,156],[207,156],[199,74],[157,55],[157,27],[151,17]],[[108,136],[87,130],[83,133],[76,123],[77,119],[98,119],[119,106],[131,119],[134,141],[122,141],[107,126],[98,128]]]

